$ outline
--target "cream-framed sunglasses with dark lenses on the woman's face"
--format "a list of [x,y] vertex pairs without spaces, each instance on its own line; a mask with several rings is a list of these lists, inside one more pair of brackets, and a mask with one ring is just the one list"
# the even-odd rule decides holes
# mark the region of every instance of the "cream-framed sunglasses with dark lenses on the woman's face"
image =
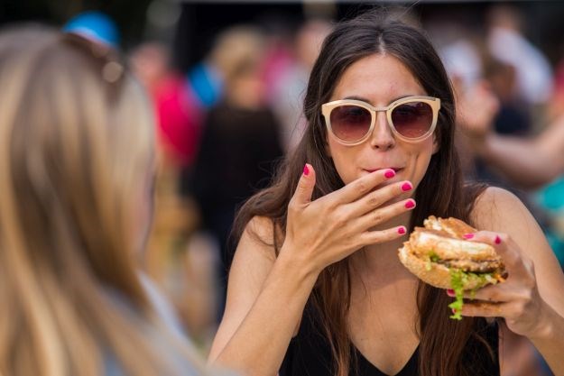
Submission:
[[435,130],[440,99],[432,96],[406,96],[385,107],[343,99],[321,105],[328,133],[343,145],[365,142],[374,131],[376,113],[385,112],[393,134],[405,142],[419,142]]

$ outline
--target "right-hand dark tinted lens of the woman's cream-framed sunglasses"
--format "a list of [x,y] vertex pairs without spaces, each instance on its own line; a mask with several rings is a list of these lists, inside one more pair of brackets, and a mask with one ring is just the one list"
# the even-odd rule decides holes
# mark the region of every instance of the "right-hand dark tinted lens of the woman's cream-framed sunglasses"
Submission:
[[392,111],[392,123],[403,137],[419,138],[430,131],[433,109],[425,102],[398,105]]

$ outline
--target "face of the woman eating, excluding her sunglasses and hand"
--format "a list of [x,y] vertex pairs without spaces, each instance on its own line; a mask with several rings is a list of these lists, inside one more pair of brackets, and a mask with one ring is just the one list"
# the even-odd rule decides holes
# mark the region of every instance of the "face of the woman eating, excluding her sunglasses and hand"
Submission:
[[[426,95],[400,60],[386,54],[374,54],[357,60],[345,70],[330,101],[354,98],[384,107],[404,96]],[[434,135],[420,142],[395,138],[384,112],[377,113],[374,132],[365,142],[346,146],[329,135],[327,142],[328,154],[345,184],[371,171],[391,168],[396,170],[391,181],[410,180],[417,188],[431,155],[436,151]]]

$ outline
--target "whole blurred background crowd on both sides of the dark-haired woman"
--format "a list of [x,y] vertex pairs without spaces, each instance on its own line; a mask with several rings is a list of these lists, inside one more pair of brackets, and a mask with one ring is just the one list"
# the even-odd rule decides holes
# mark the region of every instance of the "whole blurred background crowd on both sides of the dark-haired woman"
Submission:
[[[495,5],[479,28],[424,26],[458,96],[467,179],[522,198],[564,265],[564,59],[551,65],[524,34],[522,17]],[[65,27],[118,49],[116,25],[104,14],[82,14]],[[173,68],[165,43],[127,51],[156,119],[153,227],[143,269],[204,355],[223,312],[236,209],[269,183],[300,139],[302,96],[330,30],[321,18],[284,35],[236,24],[186,72]],[[528,341],[510,333],[505,340],[504,376],[550,374]]]

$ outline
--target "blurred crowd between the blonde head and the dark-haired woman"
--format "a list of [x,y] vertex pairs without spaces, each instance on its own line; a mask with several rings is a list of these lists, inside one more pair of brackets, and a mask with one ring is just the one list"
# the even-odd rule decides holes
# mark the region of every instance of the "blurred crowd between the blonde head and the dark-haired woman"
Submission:
[[[301,96],[328,20],[291,37],[236,24],[185,74],[158,43],[132,51],[158,118],[159,179],[148,267],[178,298],[190,333],[208,344],[223,312],[236,209],[268,185],[305,129]],[[188,291],[187,291],[188,289]]]

